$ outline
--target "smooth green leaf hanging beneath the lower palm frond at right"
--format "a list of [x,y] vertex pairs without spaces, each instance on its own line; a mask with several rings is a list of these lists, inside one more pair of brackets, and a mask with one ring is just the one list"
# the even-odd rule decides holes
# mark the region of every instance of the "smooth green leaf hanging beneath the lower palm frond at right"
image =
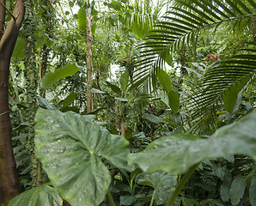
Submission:
[[236,104],[237,95],[241,91],[242,88],[245,87],[247,82],[252,79],[253,75],[246,76],[245,78],[241,79],[239,82],[236,82],[231,87],[229,87],[225,93],[223,94],[223,101],[224,101],[224,109],[232,113]]

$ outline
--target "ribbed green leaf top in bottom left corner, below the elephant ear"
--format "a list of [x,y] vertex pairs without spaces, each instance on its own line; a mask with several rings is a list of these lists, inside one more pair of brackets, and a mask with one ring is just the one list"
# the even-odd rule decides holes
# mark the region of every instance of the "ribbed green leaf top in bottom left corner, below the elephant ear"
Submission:
[[41,185],[28,191],[22,192],[17,197],[9,201],[9,206],[31,206],[31,205],[44,205],[44,206],[61,206],[63,200],[59,197],[58,192],[49,185]]

